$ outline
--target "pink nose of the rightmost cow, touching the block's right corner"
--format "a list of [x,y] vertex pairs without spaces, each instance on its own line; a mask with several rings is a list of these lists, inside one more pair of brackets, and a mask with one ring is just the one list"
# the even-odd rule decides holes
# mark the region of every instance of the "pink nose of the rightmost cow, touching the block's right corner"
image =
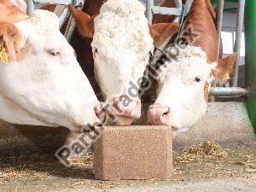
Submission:
[[170,125],[171,111],[170,108],[154,104],[148,109],[148,125]]

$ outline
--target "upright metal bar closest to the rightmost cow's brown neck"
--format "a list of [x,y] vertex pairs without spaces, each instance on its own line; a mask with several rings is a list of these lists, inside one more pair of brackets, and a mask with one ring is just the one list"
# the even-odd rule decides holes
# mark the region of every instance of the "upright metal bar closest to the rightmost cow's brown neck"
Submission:
[[220,40],[221,40],[221,29],[222,29],[222,21],[223,21],[223,9],[224,9],[224,0],[218,0],[217,5],[217,32],[218,32],[218,42],[217,42],[217,55],[216,61],[218,61],[219,57],[219,49],[220,49]]

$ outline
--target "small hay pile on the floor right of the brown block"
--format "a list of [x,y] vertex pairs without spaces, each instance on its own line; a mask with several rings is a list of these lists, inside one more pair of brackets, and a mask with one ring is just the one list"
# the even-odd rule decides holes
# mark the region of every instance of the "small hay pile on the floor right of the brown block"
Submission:
[[206,142],[184,149],[181,154],[175,155],[177,161],[191,161],[200,159],[218,160],[227,158],[228,153],[218,144]]

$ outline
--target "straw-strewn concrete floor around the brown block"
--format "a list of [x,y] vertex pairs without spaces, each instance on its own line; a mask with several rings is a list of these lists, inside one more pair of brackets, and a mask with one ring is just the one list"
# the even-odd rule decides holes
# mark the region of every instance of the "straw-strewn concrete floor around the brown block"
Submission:
[[93,155],[67,168],[42,148],[0,150],[0,191],[256,191],[256,141],[223,148],[226,156],[174,153],[170,181],[98,181]]

